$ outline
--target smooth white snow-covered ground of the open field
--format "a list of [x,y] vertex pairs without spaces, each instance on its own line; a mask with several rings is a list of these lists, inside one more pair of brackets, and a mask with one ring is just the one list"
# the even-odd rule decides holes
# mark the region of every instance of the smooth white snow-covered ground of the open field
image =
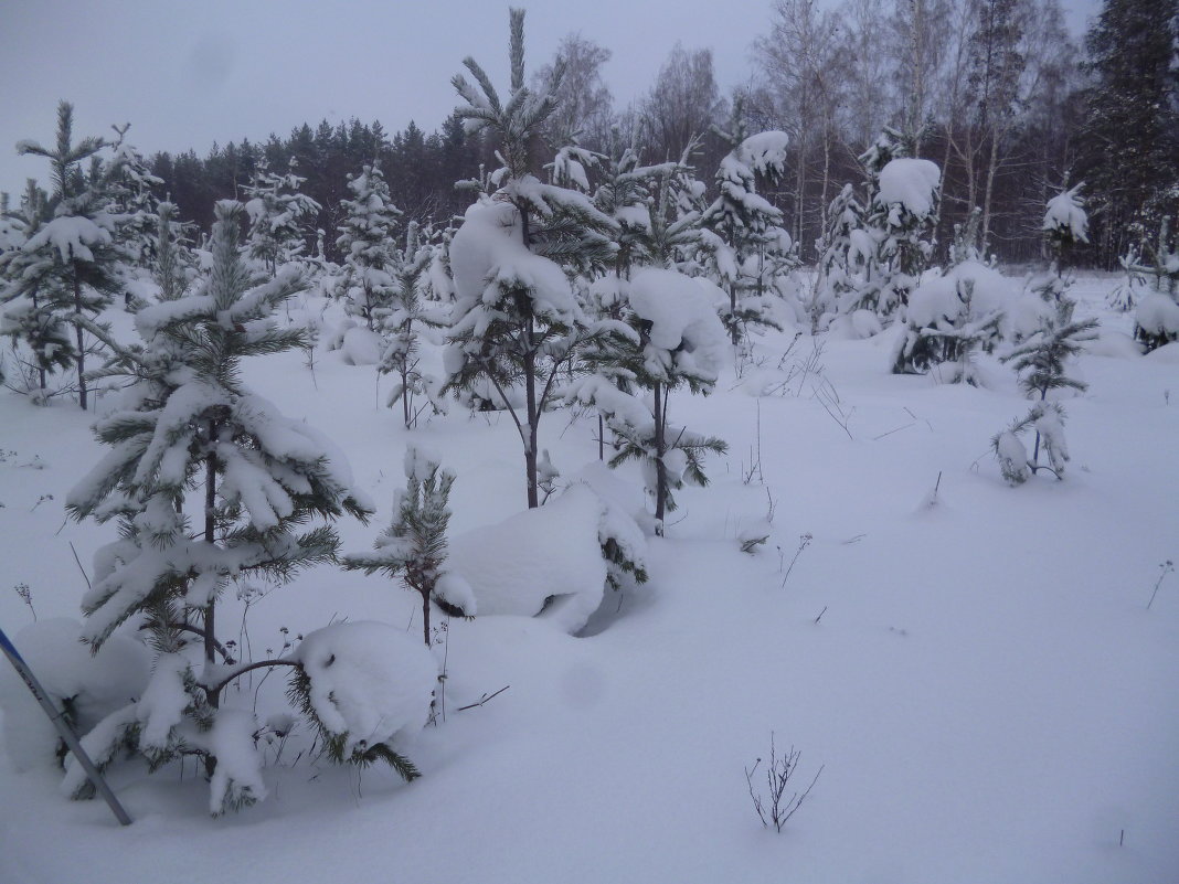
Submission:
[[[646,586],[607,592],[577,636],[544,616],[449,621],[444,720],[401,745],[421,779],[334,768],[296,732],[265,748],[269,798],[223,818],[191,761],[117,768],[136,818],[120,829],[100,801],[62,798],[52,766],[9,760],[0,882],[1179,880],[1179,574],[1160,568],[1179,559],[1179,344],[1131,352],[1129,317],[1105,308],[1115,282],[1072,291],[1104,336],[1076,367],[1087,392],[1065,402],[1063,482],[1000,477],[989,440],[1027,411],[1009,369],[984,364],[986,389],[941,384],[888,374],[897,329],[775,332],[712,396],[672,395],[672,418],[729,454],[677,494]],[[374,369],[338,351],[314,374],[302,355],[258,359],[246,381],[329,434],[377,502],[369,526],[340,523],[348,552],[388,525],[410,438],[457,474],[452,536],[525,508],[506,415],[455,408],[406,431]],[[9,634],[33,621],[18,585],[39,621],[77,619],[71,545],[88,569],[112,539],[62,510],[103,454],[90,421],[0,394]],[[638,471],[602,477],[595,430],[546,416],[558,483],[591,476],[638,508]],[[742,553],[771,507],[770,540]],[[533,554],[573,553],[555,537]],[[231,607],[223,622],[242,619]],[[400,585],[320,568],[253,600],[241,638],[261,659],[332,620],[417,638],[417,618]],[[266,714],[281,677],[226,702]],[[801,752],[796,789],[822,766],[782,833],[745,778],[771,733]]]

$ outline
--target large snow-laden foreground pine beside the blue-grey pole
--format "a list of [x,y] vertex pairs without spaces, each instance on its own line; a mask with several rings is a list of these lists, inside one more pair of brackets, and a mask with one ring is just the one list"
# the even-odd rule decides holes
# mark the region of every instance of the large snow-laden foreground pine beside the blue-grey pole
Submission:
[[[143,699],[91,743],[107,759],[113,746],[133,744],[152,766],[202,756],[212,777],[210,807],[219,813],[263,792],[252,715],[223,710],[222,692],[248,668],[282,661],[237,664],[218,638],[218,600],[235,579],[284,581],[332,561],[331,526],[304,526],[345,513],[364,520],[371,507],[323,436],[242,383],[244,358],[307,343],[303,330],[272,321],[304,283],[294,268],[266,282],[251,273],[238,246],[241,204],[222,202],[216,213],[212,266],[200,289],[140,310],[141,344],[107,339],[114,356],[105,374],[132,383],[121,408],[94,427],[110,454],[66,506],[79,520],[118,520],[121,534],[95,556],[84,639],[97,648],[140,614],[158,652]],[[185,651],[187,635],[199,641],[202,666]]]

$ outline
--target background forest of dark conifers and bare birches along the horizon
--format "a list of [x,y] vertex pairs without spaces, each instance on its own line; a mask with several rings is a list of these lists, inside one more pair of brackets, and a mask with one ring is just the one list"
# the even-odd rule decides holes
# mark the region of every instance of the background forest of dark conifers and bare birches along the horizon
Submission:
[[[953,230],[977,206],[980,245],[1009,263],[1045,257],[1042,206],[1063,185],[1085,182],[1094,236],[1076,259],[1117,266],[1127,249],[1154,236],[1179,207],[1179,91],[1174,0],[1111,0],[1079,45],[1059,0],[848,0],[824,9],[778,0],[751,47],[753,75],[727,95],[711,50],[677,46],[646,94],[619,107],[602,70],[607,47],[573,33],[534,73],[565,66],[560,107],[544,145],[610,154],[635,146],[644,161],[680,159],[707,180],[727,151],[714,128],[740,99],[750,131],[789,133],[789,172],[768,197],[783,209],[799,258],[818,257],[831,199],[859,183],[861,154],[884,126],[910,156],[943,170],[936,240],[944,256]],[[265,143],[248,139],[156,153],[184,219],[209,230],[215,199],[241,196],[259,166],[295,171],[320,204],[308,231],[335,246],[348,176],[374,163],[408,218],[446,226],[469,198],[455,183],[494,169],[496,145],[468,134],[454,117],[436,132],[409,121],[391,132],[378,120],[304,124]]]

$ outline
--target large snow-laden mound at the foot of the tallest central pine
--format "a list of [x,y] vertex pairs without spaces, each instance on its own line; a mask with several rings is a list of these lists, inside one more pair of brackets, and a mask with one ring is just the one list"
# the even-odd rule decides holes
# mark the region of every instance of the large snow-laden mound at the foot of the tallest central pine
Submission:
[[539,614],[574,633],[606,586],[646,579],[646,541],[623,509],[575,482],[540,509],[455,536],[449,561],[480,616]]

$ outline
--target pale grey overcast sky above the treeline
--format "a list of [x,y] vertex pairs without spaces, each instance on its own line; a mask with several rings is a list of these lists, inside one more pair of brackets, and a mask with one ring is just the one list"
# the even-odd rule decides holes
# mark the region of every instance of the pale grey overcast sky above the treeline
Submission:
[[[1074,33],[1099,0],[1062,0]],[[520,5],[520,4],[516,4]],[[523,4],[526,61],[547,61],[579,31],[611,50],[606,78],[625,105],[653,83],[667,53],[711,47],[727,92],[750,75],[749,46],[772,0],[545,0]],[[145,153],[208,153],[358,117],[389,132],[433,131],[455,106],[450,77],[474,55],[507,85],[508,4],[481,0],[0,0],[0,189],[45,184],[45,160],[17,157],[24,138],[53,140],[59,99],[74,134],[132,124]]]

